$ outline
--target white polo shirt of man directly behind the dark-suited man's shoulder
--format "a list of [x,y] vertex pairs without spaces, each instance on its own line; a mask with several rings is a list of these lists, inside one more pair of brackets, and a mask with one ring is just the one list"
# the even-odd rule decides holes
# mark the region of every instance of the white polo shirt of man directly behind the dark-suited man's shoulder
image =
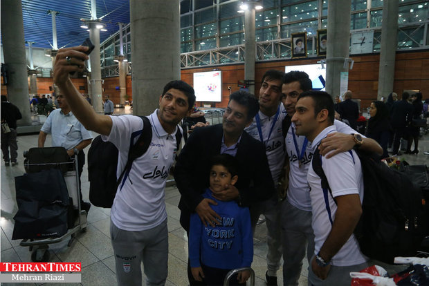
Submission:
[[284,117],[286,117],[286,111],[284,110],[283,104],[280,103],[277,120],[275,120],[275,122],[273,121],[275,119],[275,115],[268,117],[264,115],[262,111],[259,111],[258,115],[263,140],[261,140],[261,136],[259,135],[256,116],[253,118],[253,122],[250,126],[246,127],[244,131],[256,140],[264,142],[266,158],[268,159],[268,165],[270,166],[271,176],[273,177],[274,184],[277,184],[280,178],[280,173],[282,172],[285,156],[282,121],[284,120]]

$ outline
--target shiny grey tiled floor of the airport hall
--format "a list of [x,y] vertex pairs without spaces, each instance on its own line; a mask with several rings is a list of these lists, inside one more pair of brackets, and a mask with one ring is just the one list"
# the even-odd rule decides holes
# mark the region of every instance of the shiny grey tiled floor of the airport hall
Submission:
[[[48,136],[46,146],[50,146],[51,137]],[[18,137],[19,164],[17,166],[5,166],[0,164],[1,171],[1,261],[2,262],[30,262],[31,253],[28,247],[19,246],[20,240],[12,240],[13,216],[17,212],[15,201],[14,177],[24,173],[22,152],[37,146],[37,135],[23,135]],[[423,151],[429,151],[429,135],[425,135],[420,141],[419,155],[403,155],[410,164],[428,164],[429,155]],[[89,182],[86,167],[82,174],[82,193],[84,200],[89,201]],[[185,231],[179,224],[179,191],[173,186],[165,191],[165,200],[168,214],[169,229],[169,273],[167,285],[188,285],[186,276],[186,263],[188,257],[188,245]],[[109,237],[109,211],[92,207],[89,211],[89,225],[86,233],[79,233],[71,247],[67,247],[67,241],[50,246],[51,262],[81,262],[81,285],[117,285],[115,275],[115,262],[113,249]],[[253,269],[256,274],[256,285],[265,285],[264,274],[266,271],[266,226],[258,225],[254,238],[255,255]],[[300,276],[300,285],[307,285],[307,261],[304,259],[304,267]],[[282,285],[282,271],[277,273],[279,285]],[[24,284],[25,285],[25,284]],[[29,284],[33,285],[33,284]],[[49,283],[48,285],[55,285]],[[70,284],[66,284],[70,285]]]

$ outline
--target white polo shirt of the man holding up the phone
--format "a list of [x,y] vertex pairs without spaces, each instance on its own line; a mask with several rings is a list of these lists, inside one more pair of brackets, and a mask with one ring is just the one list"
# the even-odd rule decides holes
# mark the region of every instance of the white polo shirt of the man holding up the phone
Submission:
[[[176,153],[176,131],[171,135],[163,129],[156,115],[149,116],[152,141],[146,153],[134,160],[129,175],[122,180],[111,207],[111,220],[120,229],[142,231],[152,229],[166,218],[165,182]],[[119,150],[117,177],[127,163],[129,147],[143,131],[143,120],[133,115],[111,116],[108,136],[102,140],[115,144]]]

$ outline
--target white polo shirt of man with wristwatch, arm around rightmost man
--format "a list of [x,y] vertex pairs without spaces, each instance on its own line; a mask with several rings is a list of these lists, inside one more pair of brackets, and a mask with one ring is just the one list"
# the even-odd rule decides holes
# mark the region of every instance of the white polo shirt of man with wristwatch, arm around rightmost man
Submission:
[[[340,133],[352,134],[356,131],[339,120],[334,120],[334,126]],[[307,173],[311,158],[313,158],[314,148],[311,142],[308,142],[307,149],[302,155],[301,165],[299,164],[298,157],[302,153],[302,146],[304,145],[305,136],[295,134],[295,140],[298,146],[298,151],[295,148],[293,140],[293,133],[295,133],[295,124],[292,122],[291,127],[286,135],[286,151],[289,155],[289,163],[291,171],[289,172],[289,189],[287,191],[287,200],[296,208],[303,211],[311,211],[311,199],[309,193],[309,183],[307,181]],[[365,137],[365,136],[363,136]]]

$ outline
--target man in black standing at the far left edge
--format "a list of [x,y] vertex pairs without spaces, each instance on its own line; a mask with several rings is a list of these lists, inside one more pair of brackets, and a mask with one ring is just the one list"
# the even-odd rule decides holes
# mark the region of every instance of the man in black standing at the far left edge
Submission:
[[18,164],[17,120],[21,118],[22,115],[17,106],[8,102],[6,95],[1,95],[1,151],[6,166],[9,166],[10,161],[12,166]]

